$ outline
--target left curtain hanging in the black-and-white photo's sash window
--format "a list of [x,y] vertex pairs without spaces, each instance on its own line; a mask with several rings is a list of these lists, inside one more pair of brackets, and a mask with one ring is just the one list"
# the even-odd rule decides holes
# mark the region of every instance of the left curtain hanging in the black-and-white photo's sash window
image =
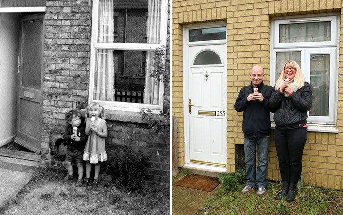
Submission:
[[[99,1],[98,42],[113,42],[113,0]],[[114,101],[113,50],[97,51],[95,72],[96,100]]]

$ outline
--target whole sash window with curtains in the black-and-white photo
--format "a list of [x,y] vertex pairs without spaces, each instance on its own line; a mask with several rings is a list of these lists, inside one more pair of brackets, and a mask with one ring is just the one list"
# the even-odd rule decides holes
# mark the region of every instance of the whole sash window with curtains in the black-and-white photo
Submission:
[[162,109],[163,84],[150,78],[166,45],[167,0],[94,0],[90,101],[106,109]]

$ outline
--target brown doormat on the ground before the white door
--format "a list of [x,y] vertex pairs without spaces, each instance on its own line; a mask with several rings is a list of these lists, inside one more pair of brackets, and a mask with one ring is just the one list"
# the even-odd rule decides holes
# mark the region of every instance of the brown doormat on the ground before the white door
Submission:
[[219,184],[218,178],[202,175],[186,175],[173,185],[194,188],[203,191],[213,191]]

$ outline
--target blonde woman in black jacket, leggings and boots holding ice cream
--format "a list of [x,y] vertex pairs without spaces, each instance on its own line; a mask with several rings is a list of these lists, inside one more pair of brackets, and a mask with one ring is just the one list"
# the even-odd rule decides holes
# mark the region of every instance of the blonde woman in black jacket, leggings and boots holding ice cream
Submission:
[[286,196],[287,202],[295,198],[296,184],[302,170],[302,154],[307,140],[307,111],[312,105],[312,90],[304,81],[299,65],[287,61],[274,86],[269,105],[275,109],[274,140],[282,180],[279,200]]

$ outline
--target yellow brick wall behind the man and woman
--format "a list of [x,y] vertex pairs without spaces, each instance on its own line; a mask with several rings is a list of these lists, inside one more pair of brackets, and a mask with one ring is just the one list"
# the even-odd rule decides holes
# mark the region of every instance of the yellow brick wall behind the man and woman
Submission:
[[[248,74],[259,64],[270,84],[270,20],[272,17],[340,12],[341,0],[173,0],[173,115],[177,116],[179,166],[184,164],[183,25],[227,22],[227,172],[235,171],[235,146],[243,144],[242,113],[233,106]],[[343,13],[343,12],[342,12]],[[343,81],[343,14],[338,80]],[[343,83],[343,82],[342,82]],[[305,183],[343,188],[343,84],[339,83],[338,134],[309,132],[303,156]],[[273,136],[273,133],[272,133]],[[271,138],[267,178],[280,180],[276,148]]]

